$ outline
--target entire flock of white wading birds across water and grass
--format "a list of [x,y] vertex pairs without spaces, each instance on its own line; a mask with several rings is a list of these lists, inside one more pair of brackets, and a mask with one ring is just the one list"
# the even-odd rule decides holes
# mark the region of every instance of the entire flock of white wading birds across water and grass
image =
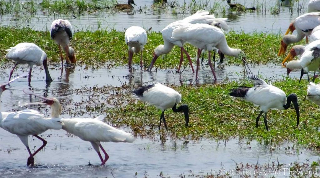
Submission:
[[[230,4],[230,2],[228,3]],[[128,4],[130,6],[128,6]],[[128,6],[127,8],[131,9],[133,8],[131,4],[134,4],[134,1],[129,0],[128,4],[117,4],[117,7],[120,8],[121,6],[121,8],[125,8],[125,6]],[[303,74],[308,74],[309,71],[316,71],[320,67],[320,30],[318,30],[320,29],[320,0],[310,1],[310,4],[313,5],[310,7],[308,6],[307,14],[297,17],[290,23],[289,28],[281,41],[281,47],[278,53],[278,56],[284,54],[289,44],[299,42],[304,38],[304,36],[307,36],[307,41],[309,40],[310,44],[293,46],[288,56],[282,62],[283,65],[287,62],[286,68],[288,75],[292,70],[301,69],[300,80]],[[226,20],[227,18],[215,18],[214,15],[210,15],[207,11],[198,11],[183,20],[170,23],[161,31],[164,44],[158,45],[154,50],[153,58],[147,71],[152,70],[153,65],[160,55],[169,53],[172,48],[177,45],[180,47],[181,51],[180,63],[177,71],[180,72],[181,64],[184,60],[183,54],[185,54],[192,72],[195,72],[190,55],[183,47],[184,44],[189,43],[198,49],[196,59],[196,80],[198,79],[197,74],[200,55],[201,53],[204,53],[204,51],[208,51],[208,64],[212,70],[214,80],[217,80],[217,78],[211,62],[211,51],[214,51],[213,56],[215,56],[215,52],[220,54],[220,61],[223,60],[224,55],[242,59],[244,72],[247,72],[247,75],[249,76],[249,73],[246,70],[248,65],[246,65],[244,52],[241,49],[235,49],[228,46],[227,39],[223,33],[224,30],[228,30],[229,28]],[[297,36],[288,35],[289,32],[292,33],[294,30],[297,31]],[[73,30],[70,22],[68,20],[61,19],[54,20],[50,29],[50,35],[55,43],[59,45],[62,67],[64,57],[61,52],[61,48],[66,53],[66,65],[71,65],[70,62],[76,63],[75,50],[69,45],[73,36]],[[140,66],[142,68],[142,52],[144,45],[147,44],[146,31],[137,26],[128,28],[125,31],[125,43],[128,45],[128,67],[132,68],[133,53],[140,53]],[[33,43],[20,43],[6,51],[8,53],[5,55],[5,58],[15,61],[15,66],[10,72],[9,82],[0,85],[0,97],[1,94],[8,89],[6,88],[6,85],[9,85],[9,83],[19,78],[17,77],[11,80],[12,73],[18,64],[29,65],[29,85],[31,82],[31,71],[33,65],[43,65],[46,76],[45,81],[52,82],[47,65],[47,55],[40,47]],[[294,61],[293,59],[297,55],[301,56],[300,60]],[[23,77],[23,75],[20,75],[20,77]],[[296,126],[299,126],[300,111],[298,97],[295,93],[291,93],[286,96],[284,91],[280,88],[267,84],[260,78],[254,77],[252,72],[250,78],[253,81],[253,87],[240,86],[231,89],[229,95],[260,106],[260,113],[256,118],[256,127],[258,127],[259,119],[264,113],[264,124],[266,129],[269,130],[267,124],[268,110],[289,109],[291,103],[293,104],[297,115]],[[39,137],[38,134],[41,134],[48,129],[63,129],[68,133],[78,136],[84,141],[90,142],[94,150],[99,155],[101,165],[104,165],[107,162],[109,156],[100,142],[134,141],[132,134],[116,129],[102,122],[101,119],[103,119],[103,116],[99,116],[97,118],[61,118],[60,114],[62,106],[56,98],[46,98],[26,89],[24,89],[23,92],[39,97],[43,101],[35,103],[19,102],[19,106],[25,107],[28,105],[44,104],[51,107],[50,118],[46,118],[38,111],[32,109],[25,109],[16,112],[1,112],[0,127],[12,134],[16,134],[20,138],[21,142],[26,146],[29,153],[29,157],[27,159],[28,166],[34,166],[34,156],[47,144],[47,142],[43,138]],[[320,84],[316,85],[314,83],[310,83],[307,92],[307,99],[320,105]],[[189,107],[186,104],[177,106],[181,101],[181,95],[174,89],[154,82],[152,85],[142,86],[140,89],[135,90],[133,94],[141,101],[148,102],[150,105],[153,105],[162,111],[159,130],[162,121],[164,123],[164,127],[168,129],[164,117],[164,111],[170,108],[173,112],[183,112],[185,117],[185,126],[189,126]],[[31,153],[28,146],[28,135],[33,135],[43,142],[43,145],[34,153]],[[104,154],[104,158],[100,153],[100,149]]]

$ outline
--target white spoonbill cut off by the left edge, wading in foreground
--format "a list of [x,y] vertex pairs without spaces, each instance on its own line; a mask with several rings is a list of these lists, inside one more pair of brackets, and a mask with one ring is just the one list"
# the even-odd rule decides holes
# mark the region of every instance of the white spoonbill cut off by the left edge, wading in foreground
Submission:
[[[7,90],[5,86],[20,77],[2,84],[0,86],[0,97],[2,92]],[[0,127],[10,132],[11,134],[16,134],[20,138],[21,142],[27,147],[30,155],[27,160],[27,166],[34,166],[35,159],[33,157],[47,144],[47,142],[37,134],[41,134],[48,129],[59,130],[62,128],[62,123],[60,121],[60,118],[45,118],[36,110],[26,109],[17,112],[2,112],[0,115]],[[29,148],[29,135],[33,135],[43,142],[43,145],[34,153],[31,153]]]

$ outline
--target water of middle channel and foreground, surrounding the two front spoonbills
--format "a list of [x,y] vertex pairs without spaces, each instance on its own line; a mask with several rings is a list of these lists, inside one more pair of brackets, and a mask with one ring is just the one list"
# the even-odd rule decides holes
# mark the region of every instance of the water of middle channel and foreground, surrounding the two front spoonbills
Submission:
[[[44,81],[44,71],[34,68],[32,72],[31,88],[36,93],[54,96],[61,100],[64,107],[70,107],[70,103],[80,101],[82,96],[74,94],[74,89],[92,87],[94,85],[115,85],[124,83],[137,85],[147,81],[158,79],[161,83],[180,85],[180,81],[190,83],[189,79],[195,77],[190,69],[182,74],[175,73],[174,70],[161,70],[147,72],[140,70],[130,72],[127,67],[116,69],[84,69],[84,66],[77,66],[73,69],[64,69],[51,66],[50,74],[53,82],[47,85]],[[20,66],[19,69],[25,71],[28,67]],[[223,78],[238,78],[236,73],[242,73],[242,67],[225,66],[223,69],[215,68],[219,81]],[[0,83],[8,80],[9,68],[0,73]],[[251,66],[254,73],[262,73],[264,77],[282,78],[286,70],[279,66]],[[15,71],[14,75],[22,73]],[[200,69],[200,84],[211,84],[212,73],[209,67]],[[292,72],[291,77],[299,76],[299,72]],[[22,78],[10,87],[29,88],[28,79]],[[21,91],[5,91],[1,98],[1,111],[12,111],[21,109],[17,106],[18,101],[38,101],[34,97],[27,96]],[[69,103],[69,105],[68,105]],[[48,110],[42,110],[48,112]],[[46,113],[47,114],[47,113]],[[62,115],[62,117],[70,117]],[[80,117],[80,116],[79,116]],[[85,116],[81,116],[85,117]],[[130,129],[130,128],[128,128]],[[236,163],[243,162],[255,165],[259,158],[259,165],[272,163],[279,159],[280,164],[289,168],[293,162],[317,161],[319,155],[308,150],[292,150],[292,143],[284,143],[279,148],[272,148],[270,145],[256,141],[243,141],[232,139],[225,142],[203,140],[197,142],[177,141],[176,147],[173,141],[161,143],[148,139],[137,138],[133,143],[102,143],[110,158],[106,166],[86,166],[90,161],[93,165],[99,164],[99,157],[92,149],[89,142],[84,142],[77,137],[68,137],[63,130],[49,130],[42,135],[48,144],[44,151],[40,151],[35,158],[36,168],[28,168],[26,159],[28,152],[17,136],[0,129],[0,175],[2,177],[133,177],[137,172],[137,177],[159,176],[163,172],[164,176],[178,177],[180,174],[186,175],[206,175],[218,174],[220,168],[226,171],[236,167]],[[41,144],[36,138],[29,137],[30,148],[38,148]],[[272,145],[274,146],[274,145]],[[289,149],[288,149],[289,146]],[[275,149],[275,150],[272,150]],[[236,162],[236,163],[235,163]],[[250,170],[250,168],[249,168]],[[223,172],[224,173],[224,172]],[[239,174],[235,172],[234,174]],[[281,176],[288,176],[282,173]]]

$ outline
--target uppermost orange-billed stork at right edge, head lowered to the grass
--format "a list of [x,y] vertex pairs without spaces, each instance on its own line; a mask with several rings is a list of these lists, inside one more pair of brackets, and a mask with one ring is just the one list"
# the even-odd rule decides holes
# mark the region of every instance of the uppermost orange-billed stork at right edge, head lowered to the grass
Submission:
[[[308,37],[318,25],[320,25],[320,12],[306,13],[293,20],[282,38],[278,56],[285,53],[289,44],[299,42],[304,36]],[[292,34],[295,29],[297,29],[297,36],[287,35],[289,32]]]

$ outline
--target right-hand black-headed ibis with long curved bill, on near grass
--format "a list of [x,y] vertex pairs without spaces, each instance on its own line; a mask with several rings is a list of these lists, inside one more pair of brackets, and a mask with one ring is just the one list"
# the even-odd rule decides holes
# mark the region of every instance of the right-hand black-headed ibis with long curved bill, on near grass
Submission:
[[297,113],[297,126],[299,125],[300,112],[298,105],[298,98],[295,93],[291,93],[287,97],[285,93],[271,84],[268,85],[265,81],[257,77],[251,77],[253,80],[253,87],[239,86],[230,90],[230,96],[249,101],[254,105],[260,106],[260,114],[256,119],[256,127],[262,113],[264,113],[264,124],[266,129],[269,130],[267,124],[267,112],[269,109],[289,109],[291,102],[293,103],[294,109]]

